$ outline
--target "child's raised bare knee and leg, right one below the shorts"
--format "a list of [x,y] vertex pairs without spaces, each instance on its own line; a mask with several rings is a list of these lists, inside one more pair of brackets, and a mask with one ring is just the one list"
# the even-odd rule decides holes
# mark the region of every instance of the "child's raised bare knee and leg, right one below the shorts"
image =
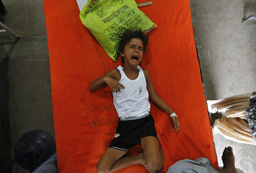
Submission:
[[146,162],[145,168],[150,172],[161,170],[163,168],[164,155],[158,139],[154,136],[146,136],[142,139],[141,144]]

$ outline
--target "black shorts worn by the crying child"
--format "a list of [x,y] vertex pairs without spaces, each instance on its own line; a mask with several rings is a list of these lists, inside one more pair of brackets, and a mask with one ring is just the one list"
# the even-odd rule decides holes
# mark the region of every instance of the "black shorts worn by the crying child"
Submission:
[[127,151],[134,145],[141,143],[142,138],[146,136],[155,136],[158,139],[152,115],[134,120],[120,120],[115,138],[109,147]]

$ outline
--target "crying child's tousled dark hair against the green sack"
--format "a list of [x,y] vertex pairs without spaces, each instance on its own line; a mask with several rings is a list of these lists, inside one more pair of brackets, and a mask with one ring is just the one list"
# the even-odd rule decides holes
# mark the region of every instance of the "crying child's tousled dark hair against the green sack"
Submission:
[[[130,34],[127,34],[126,36],[124,36],[120,42],[119,42],[119,47],[118,47],[118,51],[117,51],[117,56],[116,56],[116,60],[118,59],[118,57],[120,56],[121,53],[124,52],[124,47],[126,44],[130,43],[132,38],[138,38],[141,39],[141,41],[143,42],[143,54],[145,54],[146,52],[146,47],[148,45],[148,36],[146,36],[141,30],[140,31],[135,31],[132,32]],[[122,62],[123,62],[123,58],[122,58]]]

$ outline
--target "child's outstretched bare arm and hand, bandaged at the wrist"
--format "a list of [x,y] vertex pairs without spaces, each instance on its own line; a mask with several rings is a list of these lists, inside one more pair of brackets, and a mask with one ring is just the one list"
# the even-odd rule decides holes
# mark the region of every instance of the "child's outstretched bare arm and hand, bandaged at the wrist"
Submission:
[[[147,91],[148,91],[148,94],[150,96],[150,99],[151,101],[157,106],[159,107],[160,109],[164,110],[167,114],[172,114],[174,113],[174,111],[172,110],[172,108],[170,108],[163,100],[160,96],[157,95],[156,93],[156,90],[153,86],[153,83],[151,81],[151,77],[150,77],[150,73],[144,69],[144,75],[145,75],[145,78],[146,78],[146,84],[147,84]],[[173,120],[174,122],[174,130],[178,131],[179,128],[180,128],[180,123],[179,123],[179,120],[176,116],[174,117],[171,117],[171,119]]]

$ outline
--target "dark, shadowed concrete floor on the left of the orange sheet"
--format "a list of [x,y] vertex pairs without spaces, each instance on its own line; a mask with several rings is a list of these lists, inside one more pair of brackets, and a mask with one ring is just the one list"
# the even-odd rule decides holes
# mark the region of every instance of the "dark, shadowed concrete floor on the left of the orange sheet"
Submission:
[[[20,39],[13,42],[13,36],[0,33],[0,62],[6,67],[9,79],[5,88],[9,91],[9,111],[3,120],[4,128],[0,125],[0,134],[3,131],[11,134],[10,139],[7,135],[0,136],[1,145],[5,145],[5,149],[0,147],[0,165],[10,160],[8,156],[13,157],[13,148],[24,133],[41,129],[55,137],[43,3],[36,0],[2,2],[7,10],[5,24],[20,35]],[[6,142],[2,144],[3,141]],[[6,144],[10,144],[9,147]],[[2,155],[4,151],[5,155]],[[13,172],[29,172],[18,164],[12,169]]]

